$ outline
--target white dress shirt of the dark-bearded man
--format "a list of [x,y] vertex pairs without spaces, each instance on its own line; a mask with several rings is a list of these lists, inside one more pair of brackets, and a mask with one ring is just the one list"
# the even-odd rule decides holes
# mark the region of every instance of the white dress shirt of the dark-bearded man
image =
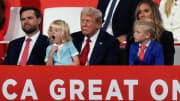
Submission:
[[[35,43],[36,43],[36,40],[38,39],[39,35],[40,35],[40,31],[37,32],[37,34],[35,34],[35,35],[33,35],[32,37],[30,37],[30,38],[31,38],[31,41],[30,41],[30,43],[29,43],[29,52],[28,52],[27,61],[28,61],[28,59],[29,59],[29,56],[30,56],[30,54],[31,54],[31,51],[32,51],[32,49],[33,49],[33,47],[34,47],[34,45],[35,45]],[[21,52],[20,52],[20,55],[19,55],[19,59],[18,59],[17,65],[20,64],[21,57],[22,57],[24,48],[25,48],[25,46],[26,46],[26,39],[27,39],[27,38],[28,38],[28,36],[26,35],[26,36],[25,36],[25,40],[24,40],[23,45],[22,45],[22,48],[21,48]]]

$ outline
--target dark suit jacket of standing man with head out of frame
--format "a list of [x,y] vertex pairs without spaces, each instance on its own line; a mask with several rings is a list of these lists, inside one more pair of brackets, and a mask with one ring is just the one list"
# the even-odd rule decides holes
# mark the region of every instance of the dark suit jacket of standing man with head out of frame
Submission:
[[[110,0],[99,0],[97,8],[103,18]],[[139,0],[120,0],[112,18],[112,31],[115,37],[128,35],[133,31],[134,12]]]

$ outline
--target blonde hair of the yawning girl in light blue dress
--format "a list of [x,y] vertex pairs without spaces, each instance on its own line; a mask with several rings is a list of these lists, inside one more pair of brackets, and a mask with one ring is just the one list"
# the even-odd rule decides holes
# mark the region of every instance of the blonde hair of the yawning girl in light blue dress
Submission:
[[[69,26],[68,24],[63,20],[55,20],[53,21],[48,29],[48,35],[50,36],[52,28],[57,28],[62,31],[62,43],[66,44],[69,41],[72,41],[72,37],[70,35]],[[52,43],[52,39],[50,38],[50,43]]]

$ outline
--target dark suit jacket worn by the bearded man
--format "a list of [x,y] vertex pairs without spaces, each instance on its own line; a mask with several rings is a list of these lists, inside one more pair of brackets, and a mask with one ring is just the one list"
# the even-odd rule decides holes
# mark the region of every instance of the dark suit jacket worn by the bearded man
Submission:
[[[21,47],[25,37],[13,40],[8,45],[7,56],[4,65],[17,65]],[[27,65],[44,65],[44,57],[46,55],[46,47],[49,45],[48,38],[42,34],[38,36],[36,43],[27,61]]]

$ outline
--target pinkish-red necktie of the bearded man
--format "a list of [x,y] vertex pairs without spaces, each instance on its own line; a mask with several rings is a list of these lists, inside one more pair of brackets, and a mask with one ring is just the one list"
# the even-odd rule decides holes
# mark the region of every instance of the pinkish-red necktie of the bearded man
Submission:
[[31,38],[28,38],[26,40],[26,46],[24,48],[22,57],[21,57],[21,61],[20,61],[20,65],[26,65],[27,62],[27,57],[28,57],[28,53],[29,53],[29,43],[31,41]]

